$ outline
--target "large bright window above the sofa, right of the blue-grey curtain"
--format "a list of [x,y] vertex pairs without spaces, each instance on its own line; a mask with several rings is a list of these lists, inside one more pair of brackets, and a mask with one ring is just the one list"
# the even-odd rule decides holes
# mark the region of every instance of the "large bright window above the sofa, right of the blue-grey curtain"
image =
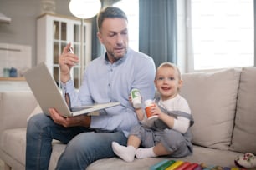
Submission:
[[190,0],[190,7],[189,71],[254,65],[253,0]]

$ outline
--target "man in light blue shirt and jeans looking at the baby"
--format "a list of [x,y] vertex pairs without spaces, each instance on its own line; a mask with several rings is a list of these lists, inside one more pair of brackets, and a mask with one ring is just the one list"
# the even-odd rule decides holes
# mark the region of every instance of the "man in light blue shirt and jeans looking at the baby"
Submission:
[[71,105],[94,102],[120,102],[120,106],[100,111],[100,116],[61,117],[54,108],[50,116],[38,114],[28,121],[26,169],[48,169],[52,140],[66,143],[56,169],[85,169],[100,158],[115,156],[112,141],[125,145],[131,127],[138,121],[129,102],[132,88],[138,88],[144,99],[153,98],[155,64],[151,57],[128,47],[125,13],[117,7],[106,7],[97,18],[98,38],[106,52],[86,67],[83,83],[75,92],[70,69],[79,62],[69,53],[68,44],[59,56],[63,93],[69,93]]

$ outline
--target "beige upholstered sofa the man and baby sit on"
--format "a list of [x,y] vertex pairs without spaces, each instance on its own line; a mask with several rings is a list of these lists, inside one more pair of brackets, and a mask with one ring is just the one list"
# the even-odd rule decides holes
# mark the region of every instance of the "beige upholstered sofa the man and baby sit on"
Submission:
[[[235,167],[237,156],[256,154],[256,67],[184,73],[182,79],[181,95],[187,98],[195,120],[194,153],[178,159]],[[29,90],[0,92],[0,159],[6,169],[24,169],[26,124],[38,112],[40,107]],[[54,169],[64,148],[64,144],[53,141],[49,169]],[[87,169],[147,170],[164,159],[177,160],[161,157],[125,163],[115,157],[95,161]]]

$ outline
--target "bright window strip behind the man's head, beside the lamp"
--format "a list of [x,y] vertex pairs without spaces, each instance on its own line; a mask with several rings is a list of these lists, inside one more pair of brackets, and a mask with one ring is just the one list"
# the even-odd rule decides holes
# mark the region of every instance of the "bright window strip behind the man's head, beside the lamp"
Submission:
[[121,0],[114,7],[122,9],[128,18],[129,46],[139,50],[139,0]]

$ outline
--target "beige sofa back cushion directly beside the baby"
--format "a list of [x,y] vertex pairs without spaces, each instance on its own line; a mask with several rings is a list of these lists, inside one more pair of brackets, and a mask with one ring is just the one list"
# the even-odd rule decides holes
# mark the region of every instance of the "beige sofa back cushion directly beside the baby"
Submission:
[[187,98],[195,124],[192,143],[228,149],[233,134],[240,70],[182,75],[181,94]]

